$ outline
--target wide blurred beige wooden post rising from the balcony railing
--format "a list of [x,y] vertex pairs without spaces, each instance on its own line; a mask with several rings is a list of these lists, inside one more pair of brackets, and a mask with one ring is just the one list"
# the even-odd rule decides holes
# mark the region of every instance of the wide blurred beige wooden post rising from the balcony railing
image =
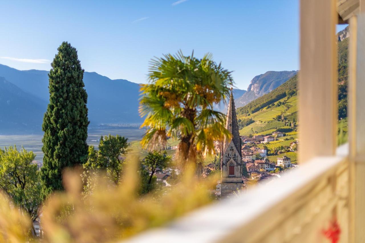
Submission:
[[300,1],[299,162],[337,144],[336,1]]

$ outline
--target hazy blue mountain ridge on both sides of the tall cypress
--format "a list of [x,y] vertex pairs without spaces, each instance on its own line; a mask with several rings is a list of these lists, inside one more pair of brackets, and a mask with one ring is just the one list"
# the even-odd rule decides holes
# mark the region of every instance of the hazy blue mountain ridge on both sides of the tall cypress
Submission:
[[[13,124],[17,129],[22,127],[28,130],[31,127],[37,127],[37,131],[40,131],[43,115],[49,102],[48,73],[43,70],[21,71],[0,64],[0,77],[4,77],[2,82],[5,80],[7,88],[11,87],[12,90],[17,90],[16,93],[21,94],[24,101],[24,104],[16,103],[19,107],[14,112],[22,110],[21,106],[27,103],[24,100],[26,97],[33,100],[37,99],[37,104],[39,104],[35,106],[36,109],[31,109],[34,112],[34,117],[37,118],[30,122],[26,122],[27,117],[15,116],[14,114],[10,116],[8,115],[10,112],[8,107],[0,107],[0,120],[5,122],[6,119],[8,128],[11,128],[10,124]],[[101,123],[142,123],[143,119],[138,113],[139,84],[122,79],[111,80],[95,72],[84,73],[84,84],[88,93],[87,107],[91,126]],[[2,85],[1,89],[4,92],[7,90],[5,85]],[[1,98],[5,99],[5,96]],[[20,97],[18,98],[20,100]],[[16,120],[16,117],[21,120]],[[40,122],[35,124],[36,120]]]

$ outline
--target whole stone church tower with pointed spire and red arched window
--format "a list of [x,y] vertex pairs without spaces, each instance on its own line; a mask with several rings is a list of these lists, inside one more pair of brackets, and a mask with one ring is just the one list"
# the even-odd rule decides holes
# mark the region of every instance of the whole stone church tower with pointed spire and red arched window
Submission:
[[241,138],[239,137],[236,109],[231,88],[231,97],[228,104],[226,128],[231,132],[232,138],[223,139],[220,180],[221,197],[241,189],[242,184],[242,153]]

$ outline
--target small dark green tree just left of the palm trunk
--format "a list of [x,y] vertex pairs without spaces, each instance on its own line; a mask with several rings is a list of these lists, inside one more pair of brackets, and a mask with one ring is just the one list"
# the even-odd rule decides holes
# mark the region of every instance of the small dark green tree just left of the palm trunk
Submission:
[[142,161],[142,165],[147,169],[150,175],[148,184],[151,184],[155,172],[167,168],[170,162],[171,158],[167,156],[166,153],[161,153],[159,151],[149,152]]

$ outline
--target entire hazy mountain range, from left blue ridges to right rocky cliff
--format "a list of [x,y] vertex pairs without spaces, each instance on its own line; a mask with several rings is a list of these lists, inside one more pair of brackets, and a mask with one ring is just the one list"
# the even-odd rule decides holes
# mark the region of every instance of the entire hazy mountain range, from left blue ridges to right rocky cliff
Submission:
[[[0,132],[41,131],[49,100],[48,71],[17,70],[0,64]],[[233,89],[236,107],[270,92],[296,71],[266,72],[253,78],[246,90]],[[142,123],[138,114],[140,85],[128,80],[111,80],[95,72],[84,73],[88,93],[90,126]],[[226,112],[227,102],[215,109]]]

